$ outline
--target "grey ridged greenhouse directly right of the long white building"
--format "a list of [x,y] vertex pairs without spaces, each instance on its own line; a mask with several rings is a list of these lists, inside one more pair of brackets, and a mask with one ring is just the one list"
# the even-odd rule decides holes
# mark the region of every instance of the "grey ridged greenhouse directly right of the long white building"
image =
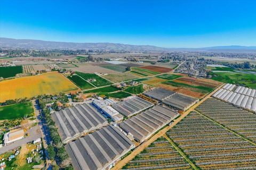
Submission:
[[149,101],[146,101],[139,97],[130,97],[124,101],[112,105],[112,107],[116,109],[117,112],[127,117],[144,111],[151,106],[154,106],[154,104],[151,104]]

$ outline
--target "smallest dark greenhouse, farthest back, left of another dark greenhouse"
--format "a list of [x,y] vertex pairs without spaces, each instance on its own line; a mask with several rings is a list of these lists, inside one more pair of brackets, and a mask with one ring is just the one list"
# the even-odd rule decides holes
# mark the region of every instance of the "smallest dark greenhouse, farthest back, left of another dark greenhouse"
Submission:
[[145,92],[144,95],[148,96],[150,98],[156,99],[158,101],[162,101],[163,99],[166,99],[167,97],[170,97],[174,94],[175,94],[174,91],[157,88],[157,89],[153,89],[153,90]]

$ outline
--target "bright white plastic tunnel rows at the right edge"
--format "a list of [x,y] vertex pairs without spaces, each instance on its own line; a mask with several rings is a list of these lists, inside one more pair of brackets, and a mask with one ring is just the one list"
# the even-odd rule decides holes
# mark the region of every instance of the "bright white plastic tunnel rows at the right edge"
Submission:
[[[212,97],[222,101],[226,101],[227,103],[244,108],[248,111],[256,112],[256,90],[242,86],[236,87],[235,85],[233,85],[234,84],[225,84],[221,89],[215,92],[215,94],[213,94]],[[230,89],[228,87],[234,88]]]

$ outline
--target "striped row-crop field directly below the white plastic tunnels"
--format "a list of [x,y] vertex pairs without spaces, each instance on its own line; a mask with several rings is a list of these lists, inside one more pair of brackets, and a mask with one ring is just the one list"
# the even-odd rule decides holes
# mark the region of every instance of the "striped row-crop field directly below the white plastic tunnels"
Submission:
[[196,110],[256,143],[256,114],[217,99],[207,99]]

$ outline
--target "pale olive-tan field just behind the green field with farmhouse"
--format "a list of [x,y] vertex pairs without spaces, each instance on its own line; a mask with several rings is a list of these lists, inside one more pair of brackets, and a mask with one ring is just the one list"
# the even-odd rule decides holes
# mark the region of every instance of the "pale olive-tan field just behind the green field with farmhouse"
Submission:
[[132,80],[132,79],[138,79],[138,77],[135,77],[131,72],[109,73],[107,75],[103,75],[103,78],[108,79],[115,83]]

